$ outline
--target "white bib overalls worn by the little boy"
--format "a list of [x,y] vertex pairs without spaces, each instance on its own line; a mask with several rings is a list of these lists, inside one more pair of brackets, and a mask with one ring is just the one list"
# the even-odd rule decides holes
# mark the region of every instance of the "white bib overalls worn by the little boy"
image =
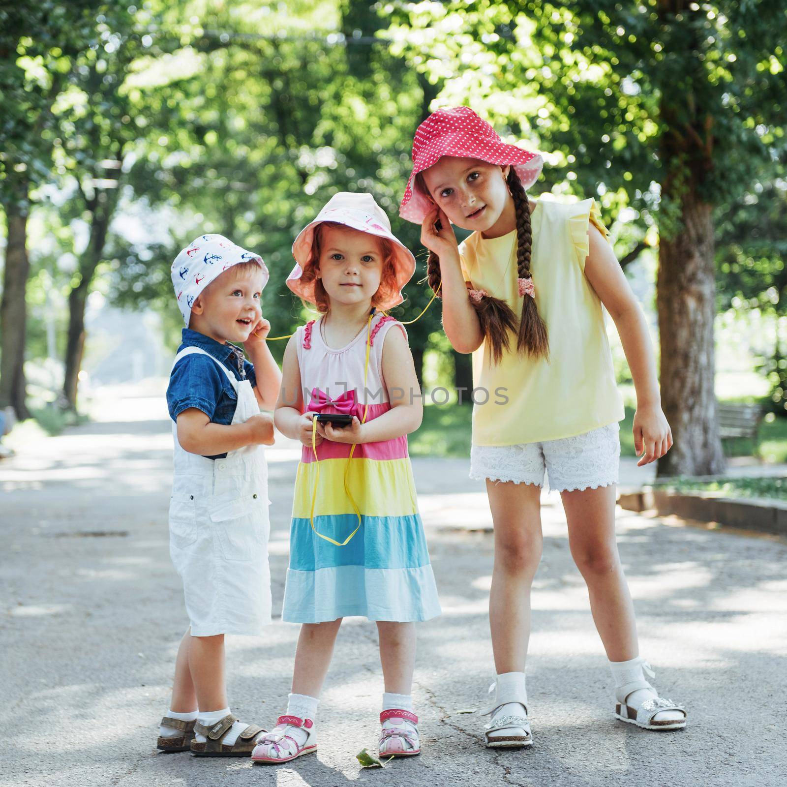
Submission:
[[[260,412],[249,380],[237,380],[212,358],[238,395],[232,423]],[[173,364],[174,368],[174,364]],[[175,473],[169,507],[169,553],[183,579],[186,611],[194,637],[259,635],[271,622],[268,567],[268,465],[261,445],[247,445],[224,459],[184,451],[175,439]]]

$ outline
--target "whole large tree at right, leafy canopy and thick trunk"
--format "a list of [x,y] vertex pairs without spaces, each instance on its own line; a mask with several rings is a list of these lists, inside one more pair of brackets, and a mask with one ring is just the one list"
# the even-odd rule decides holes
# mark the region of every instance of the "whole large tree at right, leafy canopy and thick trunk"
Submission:
[[[545,184],[600,196],[660,235],[660,475],[711,474],[714,210],[785,145],[787,9],[763,2],[579,0],[397,4],[398,51],[548,155]],[[643,226],[643,229],[645,227]]]

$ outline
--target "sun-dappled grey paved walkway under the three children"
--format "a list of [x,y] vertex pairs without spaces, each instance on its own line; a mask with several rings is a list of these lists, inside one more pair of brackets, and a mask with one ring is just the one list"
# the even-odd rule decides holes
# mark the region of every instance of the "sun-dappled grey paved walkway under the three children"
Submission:
[[[413,463],[444,610],[419,627],[422,756],[382,771],[354,759],[375,744],[382,692],[375,627],[361,619],[338,638],[317,756],[264,768],[157,754],[186,627],[167,549],[172,449],[161,398],[120,401],[94,423],[19,448],[0,464],[0,785],[784,783],[787,543],[619,512],[643,652],[663,693],[691,711],[688,729],[648,733],[612,718],[586,589],[549,496],[528,665],[535,745],[482,748],[492,538],[464,460]],[[297,451],[282,445],[269,456],[280,609]],[[269,726],[283,709],[296,637],[297,626],[276,622],[259,639],[228,638],[230,696],[243,719]]]

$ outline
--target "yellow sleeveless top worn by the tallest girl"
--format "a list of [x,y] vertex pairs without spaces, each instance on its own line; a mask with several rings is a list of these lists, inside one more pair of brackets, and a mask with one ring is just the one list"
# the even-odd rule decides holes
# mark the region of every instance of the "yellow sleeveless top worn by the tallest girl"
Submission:
[[[474,445],[569,438],[623,419],[601,301],[585,277],[591,221],[608,235],[593,199],[534,208],[530,271],[549,360],[517,353],[515,334],[500,364],[491,362],[486,342],[473,353]],[[465,281],[502,298],[519,317],[516,231],[500,238],[474,232],[459,253]]]

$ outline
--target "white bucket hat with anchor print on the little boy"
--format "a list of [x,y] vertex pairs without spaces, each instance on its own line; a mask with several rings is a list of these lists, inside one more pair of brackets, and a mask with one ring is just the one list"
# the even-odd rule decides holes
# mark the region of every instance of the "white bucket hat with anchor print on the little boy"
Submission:
[[185,249],[181,249],[172,263],[172,286],[178,300],[178,309],[186,327],[191,319],[191,305],[213,279],[217,279],[227,268],[241,262],[257,262],[262,269],[262,286],[268,283],[270,274],[259,254],[246,251],[224,235],[200,235]]

